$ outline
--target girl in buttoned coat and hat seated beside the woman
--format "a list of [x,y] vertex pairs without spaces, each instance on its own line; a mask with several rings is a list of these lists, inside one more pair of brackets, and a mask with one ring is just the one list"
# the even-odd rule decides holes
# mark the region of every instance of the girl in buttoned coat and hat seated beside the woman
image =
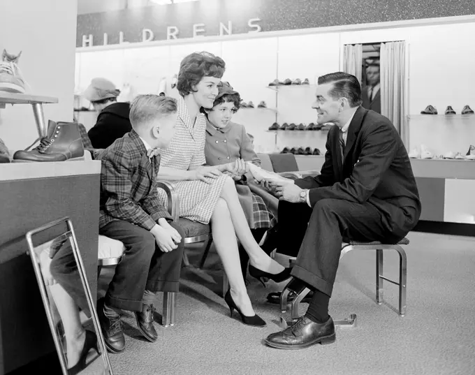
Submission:
[[[242,159],[261,166],[261,160],[254,152],[254,146],[246,128],[231,122],[233,114],[240,108],[241,98],[228,82],[220,82],[218,95],[214,98],[213,108],[205,109],[206,145],[205,157],[208,166],[220,166],[231,161]],[[246,168],[247,170],[247,168]],[[231,176],[236,183],[239,200],[246,214],[247,222],[257,242],[261,241],[265,232],[275,226],[274,215],[266,207],[264,200],[251,193],[247,186],[246,175]],[[272,249],[271,249],[272,251]],[[249,257],[240,247],[242,274],[246,277]]]

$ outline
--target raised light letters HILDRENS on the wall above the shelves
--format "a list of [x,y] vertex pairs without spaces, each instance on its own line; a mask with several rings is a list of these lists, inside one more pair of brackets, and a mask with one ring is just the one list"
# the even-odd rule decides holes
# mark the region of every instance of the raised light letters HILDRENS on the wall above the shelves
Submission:
[[[259,24],[261,19],[259,18],[251,18],[247,22],[247,27],[249,29],[249,33],[258,33],[262,31],[262,27]],[[200,38],[203,36],[207,36],[207,27],[205,23],[198,23],[198,24],[192,24],[191,29],[193,32],[193,38]],[[232,35],[233,34],[233,22],[228,21],[225,23],[219,22],[219,36],[225,36],[225,35]],[[147,42],[152,42],[156,41],[156,35],[154,30],[152,29],[142,29],[141,32],[142,38],[137,41],[133,40],[132,42],[142,42],[142,43],[147,43]],[[118,33],[118,38],[119,38],[119,44],[123,43],[131,43],[127,41],[126,35],[124,34],[124,31],[119,31]],[[167,26],[166,27],[166,40],[175,40],[180,38],[180,27],[177,26]],[[99,39],[99,40],[98,40]],[[103,33],[102,38],[96,38],[94,39],[94,34],[89,34],[89,35],[82,35],[82,45],[81,47],[94,47],[94,45],[108,45],[109,44],[109,34],[108,33]],[[117,44],[117,43],[114,43]]]

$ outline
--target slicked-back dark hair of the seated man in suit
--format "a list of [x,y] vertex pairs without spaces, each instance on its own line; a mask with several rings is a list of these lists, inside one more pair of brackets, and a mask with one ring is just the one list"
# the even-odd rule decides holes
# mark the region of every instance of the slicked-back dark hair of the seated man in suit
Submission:
[[350,107],[358,107],[363,103],[360,82],[354,75],[337,72],[319,77],[319,84],[326,83],[333,83],[332,89],[328,91],[333,99],[347,98]]

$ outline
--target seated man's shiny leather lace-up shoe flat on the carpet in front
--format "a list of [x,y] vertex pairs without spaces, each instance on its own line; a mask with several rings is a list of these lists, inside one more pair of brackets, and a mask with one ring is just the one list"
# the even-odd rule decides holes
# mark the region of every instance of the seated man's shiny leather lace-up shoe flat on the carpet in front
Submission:
[[265,344],[278,349],[303,349],[314,344],[332,344],[337,339],[331,316],[326,323],[315,323],[302,316],[294,325],[282,332],[272,333]]

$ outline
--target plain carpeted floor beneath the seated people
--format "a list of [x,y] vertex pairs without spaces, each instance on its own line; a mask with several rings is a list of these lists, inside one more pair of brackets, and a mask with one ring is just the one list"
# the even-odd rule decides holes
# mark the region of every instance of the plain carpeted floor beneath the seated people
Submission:
[[[385,302],[374,302],[375,254],[349,252],[339,265],[330,315],[356,314],[355,328],[338,328],[335,344],[301,351],[269,348],[263,339],[279,329],[268,288],[249,279],[249,295],[265,328],[229,317],[220,296],[222,271],[212,252],[205,268],[182,270],[177,323],[159,328],[159,340],[142,339],[126,314],[126,351],[110,354],[115,375],[145,374],[475,374],[475,240],[410,233],[407,315],[397,314],[397,286],[385,284]],[[199,249],[190,249],[198,264]],[[397,279],[398,257],[385,252],[385,274]],[[107,278],[101,278],[104,288]],[[157,304],[161,311],[161,301]],[[305,308],[306,304],[303,304]],[[305,310],[305,309],[303,309]],[[159,318],[157,316],[157,318]]]

